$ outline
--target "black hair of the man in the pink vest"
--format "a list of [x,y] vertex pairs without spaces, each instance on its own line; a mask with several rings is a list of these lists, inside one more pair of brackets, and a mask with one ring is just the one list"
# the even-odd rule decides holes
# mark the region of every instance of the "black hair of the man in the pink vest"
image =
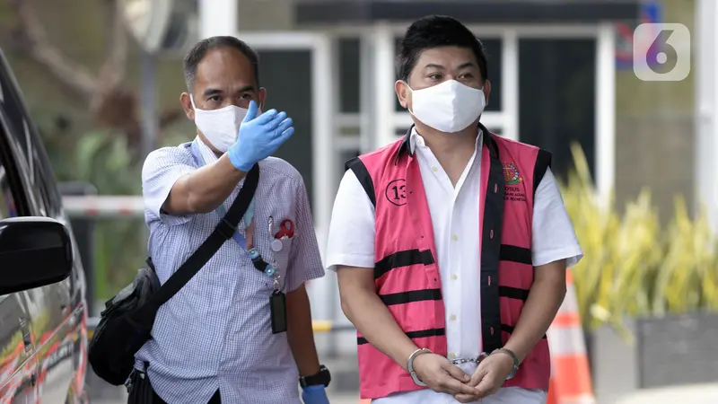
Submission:
[[429,15],[416,20],[407,28],[399,43],[397,56],[398,80],[408,81],[416,61],[426,49],[439,47],[471,48],[477,57],[482,80],[488,79],[486,53],[480,40],[461,22],[444,15]]

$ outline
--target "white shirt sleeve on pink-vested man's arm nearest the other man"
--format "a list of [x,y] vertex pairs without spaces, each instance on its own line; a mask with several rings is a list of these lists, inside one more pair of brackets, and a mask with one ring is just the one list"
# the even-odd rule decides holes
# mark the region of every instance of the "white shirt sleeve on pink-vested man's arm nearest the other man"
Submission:
[[339,183],[329,223],[327,268],[374,267],[374,206],[354,171]]

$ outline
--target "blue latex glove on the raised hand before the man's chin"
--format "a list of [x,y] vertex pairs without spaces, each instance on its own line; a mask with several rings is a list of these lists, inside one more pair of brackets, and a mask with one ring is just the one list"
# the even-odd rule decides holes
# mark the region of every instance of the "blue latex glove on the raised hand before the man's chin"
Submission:
[[256,162],[275,153],[294,134],[293,121],[286,117],[286,112],[267,110],[257,114],[257,102],[250,101],[247,115],[241,121],[240,136],[227,151],[237,170],[250,171]]

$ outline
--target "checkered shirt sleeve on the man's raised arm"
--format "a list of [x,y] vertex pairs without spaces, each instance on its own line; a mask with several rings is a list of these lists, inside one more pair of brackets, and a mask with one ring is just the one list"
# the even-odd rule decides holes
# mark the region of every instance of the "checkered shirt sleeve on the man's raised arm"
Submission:
[[162,205],[170,196],[175,182],[195,171],[191,157],[181,147],[164,147],[147,155],[142,166],[142,197],[147,222],[160,220],[164,224],[187,223],[192,215],[170,215]]

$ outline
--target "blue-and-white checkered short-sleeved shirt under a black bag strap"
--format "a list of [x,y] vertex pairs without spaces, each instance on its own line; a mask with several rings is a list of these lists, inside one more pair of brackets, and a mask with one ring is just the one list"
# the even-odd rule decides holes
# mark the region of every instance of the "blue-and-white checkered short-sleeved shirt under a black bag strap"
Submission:
[[[217,157],[195,139],[207,163]],[[147,156],[142,171],[144,218],[149,250],[162,283],[180,268],[215,229],[216,212],[173,216],[161,211],[175,181],[197,170],[191,143],[165,147]],[[281,274],[282,290],[322,277],[320,251],[302,176],[288,162],[259,162],[255,194],[254,245]],[[242,183],[224,202],[229,209]],[[274,226],[269,229],[269,216]],[[284,219],[295,235],[273,252],[270,234]],[[240,224],[244,234],[244,224]],[[204,404],[220,390],[223,403],[300,403],[296,364],[286,333],[272,334],[269,295],[272,281],[252,265],[234,240],[225,242],[195,277],[157,314],[153,339],[137,353],[149,362],[154,391],[171,404]]]

